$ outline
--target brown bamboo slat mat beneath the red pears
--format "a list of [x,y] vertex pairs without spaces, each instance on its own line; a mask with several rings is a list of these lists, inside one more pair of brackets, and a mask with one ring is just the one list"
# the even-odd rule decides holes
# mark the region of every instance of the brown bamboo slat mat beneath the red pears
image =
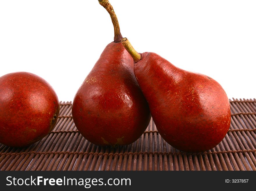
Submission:
[[158,134],[151,120],[133,144],[99,147],[77,131],[72,102],[61,102],[54,130],[26,148],[0,144],[0,170],[256,170],[256,99],[230,100],[230,130],[215,148],[184,153]]

